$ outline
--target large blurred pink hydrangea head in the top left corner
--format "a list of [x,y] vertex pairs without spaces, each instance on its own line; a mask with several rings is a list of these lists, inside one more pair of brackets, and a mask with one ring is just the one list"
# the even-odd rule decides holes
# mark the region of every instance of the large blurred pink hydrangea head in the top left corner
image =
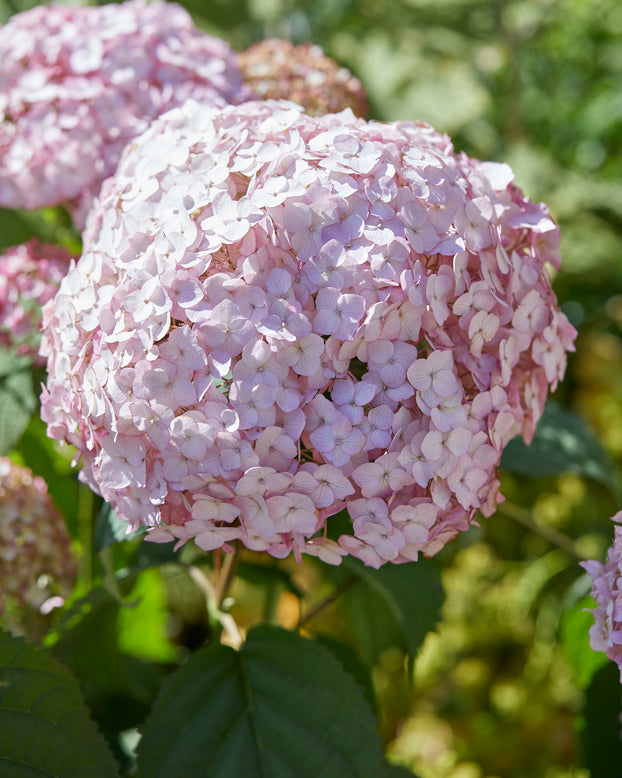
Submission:
[[65,204],[78,226],[129,140],[194,97],[249,99],[235,54],[179,5],[52,4],[0,29],[0,206]]

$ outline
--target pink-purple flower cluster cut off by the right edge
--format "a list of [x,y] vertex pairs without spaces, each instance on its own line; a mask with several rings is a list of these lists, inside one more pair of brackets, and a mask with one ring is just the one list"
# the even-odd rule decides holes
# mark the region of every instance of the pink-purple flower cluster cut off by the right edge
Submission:
[[606,562],[583,562],[592,579],[592,597],[596,608],[592,611],[594,624],[590,629],[590,645],[594,651],[603,651],[620,668],[622,681],[622,511],[613,516],[613,546]]

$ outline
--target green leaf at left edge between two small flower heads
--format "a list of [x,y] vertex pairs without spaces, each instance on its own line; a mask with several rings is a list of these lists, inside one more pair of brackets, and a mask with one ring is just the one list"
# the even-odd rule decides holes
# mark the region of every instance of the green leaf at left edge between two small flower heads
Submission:
[[20,439],[37,408],[32,363],[8,349],[0,349],[0,455]]

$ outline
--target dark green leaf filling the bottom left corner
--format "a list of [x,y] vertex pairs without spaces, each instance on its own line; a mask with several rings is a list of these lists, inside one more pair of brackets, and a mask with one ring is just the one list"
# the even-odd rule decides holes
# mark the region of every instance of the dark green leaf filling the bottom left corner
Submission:
[[77,680],[43,649],[6,632],[0,632],[0,775],[119,775]]

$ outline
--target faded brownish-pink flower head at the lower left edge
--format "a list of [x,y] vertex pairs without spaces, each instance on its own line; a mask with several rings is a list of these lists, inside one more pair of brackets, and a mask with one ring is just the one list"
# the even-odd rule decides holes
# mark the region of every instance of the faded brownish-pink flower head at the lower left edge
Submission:
[[0,613],[11,604],[46,613],[71,591],[76,559],[47,485],[0,458]]

